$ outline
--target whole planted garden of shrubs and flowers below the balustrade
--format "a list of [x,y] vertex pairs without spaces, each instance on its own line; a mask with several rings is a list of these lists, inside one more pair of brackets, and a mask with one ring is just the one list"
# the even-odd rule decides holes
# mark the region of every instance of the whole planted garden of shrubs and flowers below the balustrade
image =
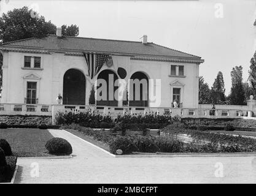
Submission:
[[[89,113],[59,113],[56,122],[62,124],[61,129],[68,130],[72,134],[79,135],[79,137],[85,135],[83,137],[85,140],[89,138],[98,141],[112,154],[250,153],[256,151],[254,138],[229,134],[236,129],[236,126],[245,124],[244,121],[222,120],[217,124],[218,126],[215,126],[214,123],[206,120],[204,124],[200,120],[191,123],[188,119],[183,120],[179,116],[171,118],[168,115],[124,115],[113,120],[110,116]],[[219,130],[226,130],[228,134],[208,131],[211,130],[208,127],[214,126],[222,127]],[[93,129],[95,127],[101,129]],[[160,134],[152,135],[150,132],[152,127],[160,129]],[[97,145],[97,142],[95,144]]]

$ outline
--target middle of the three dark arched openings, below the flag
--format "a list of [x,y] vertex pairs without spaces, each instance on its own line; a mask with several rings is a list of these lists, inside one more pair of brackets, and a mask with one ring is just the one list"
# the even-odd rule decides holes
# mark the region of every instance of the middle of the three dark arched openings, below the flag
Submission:
[[[106,81],[106,87],[103,88],[103,83],[101,83],[99,79]],[[99,100],[99,97],[97,97],[96,105],[118,105],[118,101],[115,99],[114,94],[114,92],[118,89],[118,86],[114,86],[115,80],[118,80],[118,77],[117,74],[115,74],[115,72],[112,70],[106,69],[99,73],[97,78],[97,91],[99,91],[99,96],[104,98]],[[103,93],[105,93],[105,95],[103,95]]]

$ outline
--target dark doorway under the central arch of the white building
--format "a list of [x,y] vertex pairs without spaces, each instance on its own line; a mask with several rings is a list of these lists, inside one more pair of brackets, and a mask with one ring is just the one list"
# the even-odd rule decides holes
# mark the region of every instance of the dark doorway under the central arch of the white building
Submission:
[[[111,74],[113,75],[113,77],[111,77],[111,78],[114,78],[114,81],[109,81],[109,75],[111,75]],[[118,79],[117,74],[115,74],[112,70],[103,70],[102,72],[99,73],[97,79],[98,80],[103,79],[103,80],[106,81],[107,89],[106,89],[105,92],[107,92],[107,96],[106,96],[107,99],[106,100],[97,100],[96,104],[97,105],[107,105],[107,106],[117,106],[118,101],[115,100],[115,94],[114,94],[114,92],[118,89],[118,86],[114,86],[115,80]],[[110,83],[110,85],[114,86],[114,88],[112,88],[112,89],[114,89],[113,92],[109,92],[109,83]],[[97,83],[97,89],[99,89],[101,86],[102,86],[102,84]],[[114,100],[109,100],[109,94],[110,93],[113,95],[112,97],[114,97]],[[99,92],[99,95],[102,96],[102,92]]]

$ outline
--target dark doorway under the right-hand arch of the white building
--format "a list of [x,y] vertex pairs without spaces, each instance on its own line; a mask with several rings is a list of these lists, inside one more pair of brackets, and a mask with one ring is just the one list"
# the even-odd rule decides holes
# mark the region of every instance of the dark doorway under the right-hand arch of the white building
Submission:
[[[142,82],[142,79],[145,79],[145,87],[143,88],[143,85],[141,83],[139,85],[139,90],[136,91],[136,85],[133,83],[135,79],[138,79],[140,82]],[[131,88],[131,86],[133,86],[133,88]],[[131,97],[132,90],[133,97]],[[139,93],[139,100],[136,100],[136,92]],[[144,100],[143,97],[145,97]],[[138,107],[149,107],[149,79],[142,72],[135,72],[133,75],[131,75],[129,105]]]

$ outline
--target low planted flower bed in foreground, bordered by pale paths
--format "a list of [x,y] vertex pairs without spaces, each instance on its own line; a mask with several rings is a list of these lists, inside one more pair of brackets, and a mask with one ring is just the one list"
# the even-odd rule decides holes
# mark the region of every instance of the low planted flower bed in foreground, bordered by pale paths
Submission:
[[[173,123],[161,130],[160,137],[151,135],[120,136],[116,132],[106,132],[104,129],[93,130],[77,124],[63,126],[63,129],[74,129],[93,139],[109,145],[110,152],[116,154],[121,149],[123,154],[132,152],[142,153],[235,153],[256,151],[256,140],[252,138],[235,137],[225,134],[214,134],[196,130],[185,129],[182,123]],[[176,140],[173,135],[192,135],[192,143]],[[209,141],[200,143],[198,141]]]

